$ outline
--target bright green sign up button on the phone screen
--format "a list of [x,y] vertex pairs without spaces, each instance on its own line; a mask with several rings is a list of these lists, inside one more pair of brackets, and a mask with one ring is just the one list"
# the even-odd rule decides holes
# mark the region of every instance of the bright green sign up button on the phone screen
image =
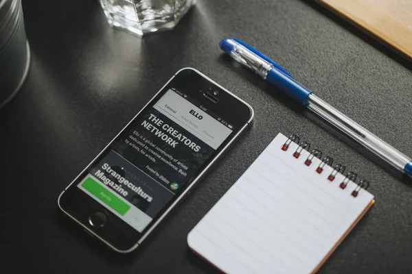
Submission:
[[86,181],[83,182],[82,188],[89,191],[91,195],[103,203],[106,203],[108,207],[115,210],[115,212],[122,216],[130,210],[130,206],[127,203],[119,199],[119,197],[114,195],[110,190],[96,182],[91,177],[87,178]]

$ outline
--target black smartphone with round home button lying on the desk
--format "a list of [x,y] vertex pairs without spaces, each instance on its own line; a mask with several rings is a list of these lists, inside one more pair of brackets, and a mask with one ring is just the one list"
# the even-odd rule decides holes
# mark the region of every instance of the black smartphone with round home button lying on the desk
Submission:
[[58,197],[121,253],[136,249],[253,121],[251,106],[181,69]]

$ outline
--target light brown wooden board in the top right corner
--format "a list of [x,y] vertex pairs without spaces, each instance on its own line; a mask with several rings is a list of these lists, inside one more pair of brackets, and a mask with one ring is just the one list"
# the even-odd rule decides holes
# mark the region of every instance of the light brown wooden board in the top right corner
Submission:
[[412,0],[315,0],[412,60]]

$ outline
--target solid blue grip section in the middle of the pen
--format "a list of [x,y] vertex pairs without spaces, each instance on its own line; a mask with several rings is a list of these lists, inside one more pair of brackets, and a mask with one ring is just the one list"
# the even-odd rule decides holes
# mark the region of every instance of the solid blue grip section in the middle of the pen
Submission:
[[288,75],[279,71],[279,69],[274,68],[269,71],[268,75],[266,75],[266,81],[282,90],[282,92],[289,95],[292,99],[295,99],[295,101],[301,105],[308,104],[308,97],[312,94],[312,91],[288,77]]

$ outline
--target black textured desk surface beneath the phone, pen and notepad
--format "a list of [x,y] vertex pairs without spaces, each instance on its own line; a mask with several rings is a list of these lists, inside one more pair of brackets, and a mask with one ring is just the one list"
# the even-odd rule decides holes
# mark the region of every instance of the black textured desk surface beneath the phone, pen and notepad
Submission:
[[[371,181],[376,204],[320,273],[411,273],[412,188],[353,142],[221,55],[249,42],[343,113],[412,155],[411,64],[312,1],[198,0],[170,32],[108,27],[97,1],[23,1],[32,66],[0,112],[2,273],[214,273],[186,236],[278,132]],[[58,211],[60,192],[185,66],[255,109],[253,129],[138,251],[119,255]]]

